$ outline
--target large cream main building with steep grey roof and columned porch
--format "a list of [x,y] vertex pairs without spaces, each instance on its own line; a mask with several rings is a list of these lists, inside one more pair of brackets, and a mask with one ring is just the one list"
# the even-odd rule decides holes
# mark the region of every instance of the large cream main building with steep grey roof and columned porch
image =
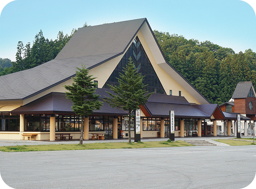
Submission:
[[[84,64],[96,77],[96,93],[108,96],[108,85],[131,57],[145,76],[147,90],[154,92],[141,107],[141,137],[168,135],[169,110],[175,111],[175,136],[207,135],[205,119],[226,119],[218,105],[211,104],[165,59],[146,18],[79,28],[55,59],[29,70],[0,77],[0,139],[22,140],[22,134],[36,134],[35,140],[55,140],[55,134],[69,133],[79,139],[81,117],[65,97],[63,85],[71,85],[76,67]],[[103,100],[102,100],[103,101]],[[100,110],[85,118],[84,140],[93,132],[117,139],[128,137],[127,112],[103,102]],[[133,123],[132,123],[133,124]],[[131,128],[133,130],[133,128]],[[132,132],[131,137],[134,136]]]

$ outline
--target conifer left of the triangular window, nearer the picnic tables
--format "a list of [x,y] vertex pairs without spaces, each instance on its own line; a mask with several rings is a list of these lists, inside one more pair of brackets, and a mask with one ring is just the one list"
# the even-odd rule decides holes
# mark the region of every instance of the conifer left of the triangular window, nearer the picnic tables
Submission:
[[89,70],[84,65],[78,68],[76,77],[73,78],[72,86],[64,85],[67,99],[73,102],[72,110],[76,115],[81,116],[81,134],[79,144],[83,144],[84,117],[89,116],[95,110],[99,110],[102,102],[99,101],[99,95],[95,94],[97,83],[92,76],[88,76]]

